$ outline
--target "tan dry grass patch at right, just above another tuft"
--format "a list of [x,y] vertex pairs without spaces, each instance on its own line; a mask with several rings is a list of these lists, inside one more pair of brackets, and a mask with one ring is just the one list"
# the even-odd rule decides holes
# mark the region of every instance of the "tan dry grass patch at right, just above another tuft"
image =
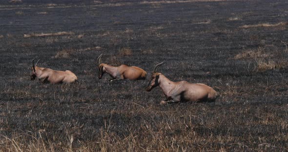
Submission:
[[260,58],[260,57],[272,57],[273,55],[266,54],[263,48],[259,47],[257,50],[245,50],[242,53],[236,55],[234,59],[244,59],[244,58]]

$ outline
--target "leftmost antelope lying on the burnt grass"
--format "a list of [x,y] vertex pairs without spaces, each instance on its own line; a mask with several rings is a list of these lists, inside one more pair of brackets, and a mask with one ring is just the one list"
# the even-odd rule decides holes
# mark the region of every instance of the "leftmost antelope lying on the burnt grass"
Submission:
[[34,65],[34,59],[32,60],[32,74],[31,74],[31,80],[34,80],[35,77],[37,76],[39,81],[41,81],[42,83],[45,82],[50,82],[53,84],[56,83],[72,83],[72,82],[76,82],[77,81],[77,76],[72,73],[69,70],[66,71],[56,71],[56,70],[52,70],[49,68],[41,68],[38,67],[38,62],[41,60],[39,59],[36,62],[36,65]]

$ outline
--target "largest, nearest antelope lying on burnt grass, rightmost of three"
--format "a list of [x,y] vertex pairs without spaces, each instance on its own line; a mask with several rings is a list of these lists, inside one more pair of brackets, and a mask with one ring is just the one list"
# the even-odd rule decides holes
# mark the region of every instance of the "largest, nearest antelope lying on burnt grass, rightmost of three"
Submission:
[[157,72],[157,69],[163,63],[164,62],[155,66],[151,80],[146,88],[146,91],[149,92],[153,88],[160,86],[166,97],[166,100],[161,101],[161,104],[182,101],[215,101],[215,99],[218,97],[218,93],[205,84],[192,84],[187,81],[170,81],[163,74]]

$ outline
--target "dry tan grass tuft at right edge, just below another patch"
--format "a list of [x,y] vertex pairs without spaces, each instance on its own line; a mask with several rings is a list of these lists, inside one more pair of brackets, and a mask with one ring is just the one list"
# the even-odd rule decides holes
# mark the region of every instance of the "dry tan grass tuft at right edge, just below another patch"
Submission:
[[288,66],[287,61],[279,61],[275,62],[271,59],[264,60],[264,59],[258,59],[256,60],[256,71],[266,71],[266,70],[273,70],[273,69],[284,69]]

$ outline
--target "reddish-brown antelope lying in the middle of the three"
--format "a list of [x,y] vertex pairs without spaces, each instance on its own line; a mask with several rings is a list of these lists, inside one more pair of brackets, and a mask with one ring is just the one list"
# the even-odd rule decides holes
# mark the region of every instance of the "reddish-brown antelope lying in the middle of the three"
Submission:
[[109,81],[119,80],[119,79],[129,79],[129,80],[144,80],[147,73],[135,66],[120,65],[118,67],[110,66],[105,63],[101,63],[101,54],[97,58],[98,62],[98,78],[101,79],[104,73],[107,73],[112,77]]

